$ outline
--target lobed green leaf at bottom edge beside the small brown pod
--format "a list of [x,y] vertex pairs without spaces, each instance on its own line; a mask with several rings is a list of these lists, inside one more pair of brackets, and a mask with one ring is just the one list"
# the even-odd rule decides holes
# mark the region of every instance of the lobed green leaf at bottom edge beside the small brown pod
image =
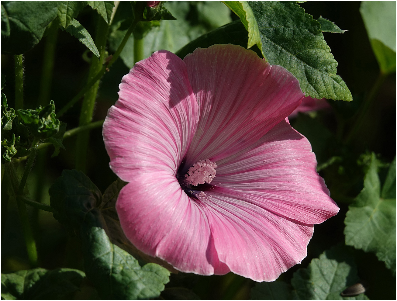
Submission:
[[358,281],[353,255],[343,245],[325,251],[312,259],[307,268],[293,274],[293,299],[300,300],[369,300],[363,293],[341,297],[341,292]]

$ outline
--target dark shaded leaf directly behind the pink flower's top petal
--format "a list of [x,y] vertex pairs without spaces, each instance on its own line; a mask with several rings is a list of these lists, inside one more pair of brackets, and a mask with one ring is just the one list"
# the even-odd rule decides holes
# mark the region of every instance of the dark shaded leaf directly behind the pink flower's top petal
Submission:
[[[179,49],[175,54],[183,59],[187,54],[192,53],[199,47],[208,48],[214,44],[235,44],[247,47],[247,41],[247,31],[241,21],[236,20],[198,37]],[[262,56],[262,53],[256,45],[254,45],[251,50],[254,50],[258,56]]]

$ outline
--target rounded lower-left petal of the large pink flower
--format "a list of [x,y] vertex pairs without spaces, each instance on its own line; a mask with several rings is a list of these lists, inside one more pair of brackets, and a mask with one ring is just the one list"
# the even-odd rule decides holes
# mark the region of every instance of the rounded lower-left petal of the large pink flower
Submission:
[[229,272],[213,247],[205,208],[168,172],[135,176],[121,189],[116,209],[126,237],[144,253],[183,272]]

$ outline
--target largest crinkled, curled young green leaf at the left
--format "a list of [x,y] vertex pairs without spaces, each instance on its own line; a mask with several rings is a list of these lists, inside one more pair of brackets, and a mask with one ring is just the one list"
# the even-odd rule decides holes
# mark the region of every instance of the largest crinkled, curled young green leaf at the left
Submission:
[[47,139],[59,131],[60,121],[55,115],[54,100],[43,108],[18,110],[23,122],[27,125],[30,133],[38,139]]

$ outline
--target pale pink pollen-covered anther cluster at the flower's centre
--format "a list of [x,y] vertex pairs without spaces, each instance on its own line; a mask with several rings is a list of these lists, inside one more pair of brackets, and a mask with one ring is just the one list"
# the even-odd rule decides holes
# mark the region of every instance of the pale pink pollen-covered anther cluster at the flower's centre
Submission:
[[211,183],[216,176],[215,168],[217,167],[214,162],[208,159],[200,160],[189,168],[187,174],[185,174],[185,182],[193,186]]

